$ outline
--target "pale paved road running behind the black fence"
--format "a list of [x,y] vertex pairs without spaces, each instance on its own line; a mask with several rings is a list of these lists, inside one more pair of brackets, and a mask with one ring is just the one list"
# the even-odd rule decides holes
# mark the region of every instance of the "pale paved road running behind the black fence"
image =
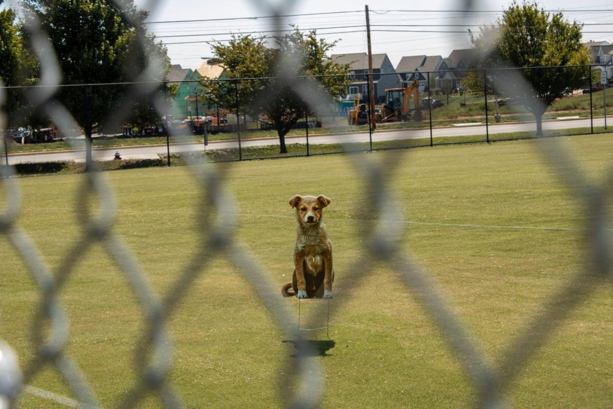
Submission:
[[[612,122],[613,128],[613,120]],[[594,126],[604,126],[604,118],[595,118]],[[571,128],[590,128],[590,120],[555,120],[544,121],[543,129],[571,129]],[[501,134],[505,132],[520,132],[520,131],[535,131],[534,123],[512,123],[512,124],[489,124],[487,132],[490,135]],[[451,126],[449,128],[434,128],[432,129],[432,137],[458,137],[466,135],[482,135],[485,140],[485,124],[466,124],[463,126]],[[400,129],[395,131],[378,131],[373,133],[373,142],[386,140],[403,140],[403,139],[418,139],[429,138],[430,129]],[[347,143],[347,142],[368,142],[368,132],[329,134],[320,136],[310,136],[309,143],[313,145],[321,145],[326,143]],[[305,136],[286,137],[286,143],[306,143]],[[277,145],[278,139],[246,139],[241,142],[242,147],[257,147],[265,145]],[[211,142],[206,147],[206,150],[237,148],[236,140]],[[205,147],[202,143],[177,143],[170,145],[170,153],[180,153],[189,151],[202,151]],[[166,145],[155,145],[145,147],[115,147],[103,148],[94,150],[94,159],[107,161],[113,159],[115,152],[119,151],[122,159],[157,159],[160,155],[166,155]],[[9,155],[9,164],[25,163],[25,162],[53,162],[53,161],[85,161],[85,152],[77,151],[56,151],[48,153],[29,153]],[[2,162],[6,159],[2,158]]]

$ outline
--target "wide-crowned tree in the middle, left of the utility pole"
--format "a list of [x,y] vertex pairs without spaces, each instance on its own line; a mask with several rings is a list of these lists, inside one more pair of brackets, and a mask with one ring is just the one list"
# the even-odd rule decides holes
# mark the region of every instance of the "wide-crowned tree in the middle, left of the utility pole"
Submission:
[[[263,37],[240,36],[227,45],[218,43],[213,49],[229,78],[255,78],[237,82],[240,109],[275,128],[280,153],[287,153],[287,132],[316,108],[313,101],[305,100],[305,94],[336,96],[348,84],[349,64],[335,63],[326,55],[335,44],[318,39],[315,30],[304,33],[295,28],[277,39],[276,48],[267,47]],[[235,104],[237,90],[227,82],[203,85],[213,101],[225,103],[226,107],[232,107],[231,102]]]

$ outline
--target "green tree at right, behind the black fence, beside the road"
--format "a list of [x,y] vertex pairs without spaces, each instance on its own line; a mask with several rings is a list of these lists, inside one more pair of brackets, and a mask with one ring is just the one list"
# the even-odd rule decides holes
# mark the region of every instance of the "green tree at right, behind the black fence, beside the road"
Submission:
[[487,76],[535,116],[538,136],[543,135],[547,107],[585,83],[585,67],[578,66],[588,64],[590,57],[581,43],[581,29],[582,25],[569,23],[561,12],[539,9],[536,2],[512,2],[497,23],[482,26],[477,37],[471,32],[482,68],[524,68],[521,73],[528,86],[509,80],[511,71],[487,71]]

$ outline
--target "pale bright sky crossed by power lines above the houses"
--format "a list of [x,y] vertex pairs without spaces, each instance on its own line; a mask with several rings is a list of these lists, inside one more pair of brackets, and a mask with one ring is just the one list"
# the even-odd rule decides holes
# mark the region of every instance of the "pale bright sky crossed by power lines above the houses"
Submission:
[[[146,0],[135,2],[147,9]],[[478,31],[478,25],[493,23],[509,4],[510,1],[474,1],[470,12],[462,12],[466,10],[466,1],[378,0],[369,6],[372,52],[386,53],[394,66],[403,56],[446,58],[454,49],[470,48],[468,29]],[[545,10],[560,10],[570,21],[590,24],[584,26],[584,41],[607,40],[613,44],[613,4],[610,2],[543,0],[538,5]],[[338,40],[333,53],[367,52],[365,4],[348,0],[166,0],[151,10],[147,28],[167,45],[173,64],[195,69],[203,58],[213,56],[206,41],[227,40],[232,33],[272,34],[266,31],[274,29],[269,17],[277,9],[281,15],[294,15],[281,18],[283,29],[291,29],[290,25],[314,28],[327,41]]]

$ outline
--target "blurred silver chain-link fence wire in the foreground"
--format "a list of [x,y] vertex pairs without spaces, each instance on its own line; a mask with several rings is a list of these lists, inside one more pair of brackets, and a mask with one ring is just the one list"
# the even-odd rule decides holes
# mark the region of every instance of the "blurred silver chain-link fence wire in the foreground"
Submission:
[[[282,24],[280,16],[288,13],[295,2],[285,1],[276,5],[265,1],[254,1],[254,4],[263,11],[276,15],[273,26],[279,28]],[[154,9],[158,6],[158,2],[151,1],[148,6]],[[466,10],[470,10],[473,3],[466,2],[465,7]],[[34,52],[41,67],[40,85],[44,85],[28,94],[29,101],[43,110],[64,135],[77,136],[75,129],[78,129],[78,126],[74,117],[56,99],[62,73],[53,46],[42,32],[39,21],[32,20],[26,28],[34,38],[33,44],[36,45]],[[145,47],[144,41],[143,47]],[[169,107],[166,101],[158,96],[159,84],[148,82],[149,78],[154,77],[162,69],[156,61],[159,60],[151,58],[147,68],[135,78],[134,84],[129,86],[132,88],[132,93],[150,99],[159,114],[164,115]],[[281,77],[284,73],[295,72],[292,64],[295,64],[292,58],[280,61],[278,70]],[[282,81],[284,85],[291,86],[313,107],[329,99],[329,96],[313,87],[312,83],[300,78],[284,76]],[[525,92],[531,92],[530,86],[520,73],[511,72],[509,83],[520,86]],[[5,90],[4,88],[0,90],[2,91],[0,103],[2,103]],[[134,102],[124,101],[119,104],[109,113],[109,123],[123,123],[131,104]],[[4,114],[0,117],[0,128],[6,129]],[[368,275],[375,266],[382,263],[390,266],[402,277],[413,296],[432,316],[438,330],[468,374],[473,388],[478,391],[479,407],[482,408],[508,407],[508,403],[504,402],[503,392],[519,376],[522,367],[538,353],[539,346],[552,336],[562,318],[573,312],[574,308],[586,300],[604,280],[611,279],[613,243],[607,209],[613,186],[613,168],[603,185],[593,185],[593,182],[590,182],[574,164],[572,155],[556,141],[536,143],[535,147],[550,162],[552,169],[569,191],[573,192],[583,204],[589,220],[585,226],[587,237],[585,253],[588,254],[588,260],[584,269],[577,272],[565,288],[551,296],[543,311],[517,334],[513,342],[509,343],[498,366],[489,363],[478,342],[471,337],[455,315],[452,306],[446,302],[433,281],[428,278],[428,273],[398,245],[403,224],[399,223],[400,213],[389,185],[398,163],[405,159],[405,155],[392,152],[382,162],[365,160],[363,156],[353,157],[355,170],[365,182],[364,203],[368,205],[362,209],[363,214],[359,215],[360,220],[364,221],[359,224],[364,248],[354,266],[343,272],[342,281],[345,284],[341,284],[342,291],[350,292],[352,286],[359,281],[358,278]],[[76,148],[79,147],[75,146]],[[351,147],[344,149],[351,150]],[[284,388],[294,391],[292,396],[284,397],[285,404],[295,408],[312,408],[321,404],[324,372],[318,360],[311,358],[314,355],[311,350],[313,346],[307,342],[300,342],[302,335],[295,334],[295,317],[289,311],[287,303],[278,295],[278,286],[258,264],[249,248],[239,243],[235,237],[237,210],[224,182],[224,167],[211,164],[202,166],[200,161],[189,155],[185,156],[185,160],[199,185],[200,199],[197,205],[210,211],[203,213],[204,216],[197,221],[199,250],[163,296],[153,290],[147,272],[143,271],[121,236],[113,231],[116,203],[113,199],[113,186],[106,174],[101,172],[86,174],[75,207],[85,239],[75,243],[66,254],[63,254],[59,267],[51,270],[28,232],[16,222],[17,213],[21,208],[20,180],[13,177],[12,167],[0,167],[5,198],[5,207],[0,214],[0,233],[23,259],[41,294],[32,323],[31,341],[36,345],[36,356],[32,361],[20,367],[12,346],[0,342],[0,408],[15,406],[20,394],[31,388],[28,386],[29,381],[41,370],[48,368],[58,372],[72,391],[75,400],[67,399],[64,405],[101,407],[96,391],[91,388],[77,363],[66,352],[66,343],[70,339],[69,317],[60,296],[76,264],[84,257],[88,248],[97,243],[118,266],[135,299],[138,300],[142,315],[147,322],[140,335],[138,347],[134,351],[134,371],[140,381],[123,395],[118,407],[137,407],[144,399],[151,396],[158,399],[161,407],[182,407],[181,397],[169,380],[169,368],[172,363],[169,321],[194,280],[211,268],[211,260],[219,257],[229,260],[249,282],[256,285],[257,297],[276,326],[287,338],[297,339],[295,343],[297,354],[294,358],[296,370],[294,380],[297,382],[297,388]],[[93,162],[88,165],[90,170],[95,170]],[[97,213],[82,210],[92,206],[97,207]],[[319,313],[324,313],[326,308],[324,304],[318,303],[316,308],[319,309]],[[286,359],[289,361],[291,357]],[[279,375],[278,383],[287,386],[291,384],[291,380],[288,380],[286,375]]]

